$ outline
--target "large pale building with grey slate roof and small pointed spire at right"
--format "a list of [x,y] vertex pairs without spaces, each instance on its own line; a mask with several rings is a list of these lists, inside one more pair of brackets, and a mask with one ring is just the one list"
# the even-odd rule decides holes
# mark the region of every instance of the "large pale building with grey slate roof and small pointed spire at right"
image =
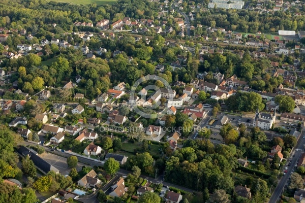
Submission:
[[257,107],[256,116],[253,120],[253,126],[260,129],[268,130],[272,127],[272,124],[276,121],[276,110],[272,114],[260,113]]

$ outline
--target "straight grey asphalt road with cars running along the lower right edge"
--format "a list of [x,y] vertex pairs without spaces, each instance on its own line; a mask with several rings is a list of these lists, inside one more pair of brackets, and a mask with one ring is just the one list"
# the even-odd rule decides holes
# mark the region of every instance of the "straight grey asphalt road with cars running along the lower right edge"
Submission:
[[[296,147],[293,149],[294,151],[291,153],[291,156],[289,157],[289,159],[287,160],[285,167],[288,167],[287,170],[287,174],[286,176],[283,176],[278,184],[278,186],[276,187],[275,191],[273,192],[272,196],[270,197],[269,203],[275,203],[277,202],[277,200],[280,198],[280,196],[282,195],[283,189],[287,183],[287,181],[289,180],[289,177],[292,173],[292,170],[295,170],[294,166],[295,164],[297,164],[297,160],[299,158],[299,156],[303,153],[303,148],[305,146],[305,139],[303,139],[302,137],[305,135],[305,129],[303,129],[301,136],[297,142]],[[293,155],[295,155],[295,157],[293,157]],[[291,165],[288,166],[289,160],[292,159]],[[281,172],[284,171],[284,168],[282,168]]]

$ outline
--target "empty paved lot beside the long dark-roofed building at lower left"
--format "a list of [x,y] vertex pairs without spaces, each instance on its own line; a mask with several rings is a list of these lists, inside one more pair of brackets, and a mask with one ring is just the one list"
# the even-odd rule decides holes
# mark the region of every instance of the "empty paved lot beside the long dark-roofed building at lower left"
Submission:
[[[51,154],[51,153],[47,153],[47,152],[42,153],[40,155],[40,157],[42,157],[45,161],[47,161],[48,163],[53,165],[55,168],[57,168],[59,170],[60,174],[65,176],[70,173],[71,169],[68,167],[67,158],[57,156],[55,154]],[[82,164],[82,163],[78,163],[76,166],[76,170],[80,171],[81,167],[83,165],[84,164]]]

